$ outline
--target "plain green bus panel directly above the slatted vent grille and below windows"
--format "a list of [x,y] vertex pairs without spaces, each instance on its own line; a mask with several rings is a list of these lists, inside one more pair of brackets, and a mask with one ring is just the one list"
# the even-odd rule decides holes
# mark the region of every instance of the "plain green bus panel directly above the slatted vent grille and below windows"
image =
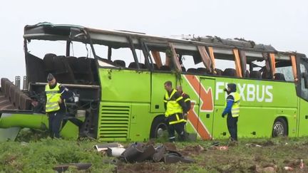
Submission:
[[150,72],[100,68],[101,101],[150,103]]

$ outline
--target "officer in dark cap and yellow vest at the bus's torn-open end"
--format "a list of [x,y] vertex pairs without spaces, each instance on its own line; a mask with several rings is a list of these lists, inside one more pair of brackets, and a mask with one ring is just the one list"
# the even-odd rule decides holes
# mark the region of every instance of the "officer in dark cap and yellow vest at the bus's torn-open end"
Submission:
[[48,84],[45,86],[46,113],[48,115],[48,130],[51,138],[60,137],[61,122],[66,114],[64,100],[73,97],[73,93],[60,83],[51,73],[47,76]]

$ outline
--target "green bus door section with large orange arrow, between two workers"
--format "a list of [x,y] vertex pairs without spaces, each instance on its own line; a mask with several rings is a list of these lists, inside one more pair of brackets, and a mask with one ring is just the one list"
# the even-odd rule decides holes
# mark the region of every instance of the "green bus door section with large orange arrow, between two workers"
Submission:
[[[215,79],[202,77],[198,79],[195,75],[185,75],[185,80],[193,88],[193,93],[189,93],[192,98],[192,108],[188,112],[188,132],[192,128],[202,140],[211,140]],[[194,95],[197,95],[197,100],[194,100]]]

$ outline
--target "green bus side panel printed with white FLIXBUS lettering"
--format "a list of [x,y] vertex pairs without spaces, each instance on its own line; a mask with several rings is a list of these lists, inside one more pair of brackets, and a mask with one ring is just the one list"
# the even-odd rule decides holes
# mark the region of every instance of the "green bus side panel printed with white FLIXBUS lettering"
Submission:
[[237,92],[241,96],[241,107],[297,108],[297,94],[294,83],[239,80],[237,78],[216,78],[216,105],[225,105],[227,94],[223,89],[227,87],[227,83],[237,84]]

